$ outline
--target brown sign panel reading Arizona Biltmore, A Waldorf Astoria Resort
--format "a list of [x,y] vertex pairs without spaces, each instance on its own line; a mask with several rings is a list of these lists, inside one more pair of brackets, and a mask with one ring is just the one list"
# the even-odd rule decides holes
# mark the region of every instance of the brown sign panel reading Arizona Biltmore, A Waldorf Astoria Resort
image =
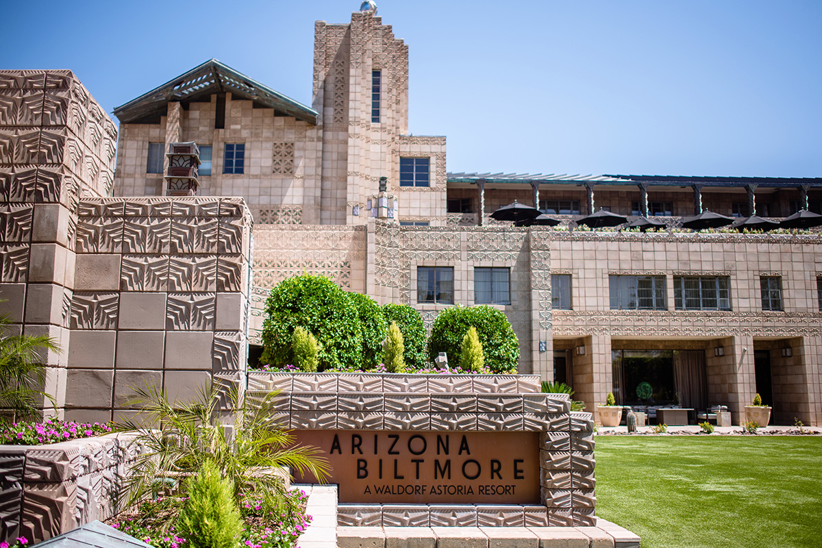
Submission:
[[339,502],[539,504],[536,432],[293,434],[298,444],[313,445],[328,459]]

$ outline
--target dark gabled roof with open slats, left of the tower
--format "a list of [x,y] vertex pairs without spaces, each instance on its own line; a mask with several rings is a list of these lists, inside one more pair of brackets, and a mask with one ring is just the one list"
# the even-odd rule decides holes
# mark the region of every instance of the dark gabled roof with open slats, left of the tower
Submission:
[[169,101],[194,100],[203,95],[221,92],[230,92],[233,97],[255,101],[314,125],[319,116],[316,110],[252,80],[216,59],[210,59],[127,104],[114,108],[114,116],[122,123],[135,122],[159,113]]

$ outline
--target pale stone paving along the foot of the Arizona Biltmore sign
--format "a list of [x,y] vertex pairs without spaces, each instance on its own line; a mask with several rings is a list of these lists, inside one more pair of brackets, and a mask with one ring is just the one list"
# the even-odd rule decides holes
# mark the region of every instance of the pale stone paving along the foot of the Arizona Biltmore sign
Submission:
[[338,527],[337,486],[296,485],[311,525],[299,548],[640,548],[640,537],[598,519],[597,527]]

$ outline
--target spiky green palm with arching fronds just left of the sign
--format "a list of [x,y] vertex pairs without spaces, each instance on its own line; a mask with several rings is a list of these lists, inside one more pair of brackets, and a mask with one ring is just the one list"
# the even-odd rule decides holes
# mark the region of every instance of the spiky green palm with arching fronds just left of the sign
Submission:
[[[252,494],[272,508],[286,508],[284,473],[295,468],[320,481],[329,466],[320,450],[295,446],[294,437],[275,421],[273,398],[256,399],[217,386],[201,389],[187,403],[169,402],[164,389],[135,389],[131,403],[139,417],[122,422],[119,430],[136,434],[132,444],[143,449],[122,491],[127,507],[156,495],[166,486],[184,486],[206,461],[233,482],[234,495]],[[170,525],[174,513],[169,513]]]

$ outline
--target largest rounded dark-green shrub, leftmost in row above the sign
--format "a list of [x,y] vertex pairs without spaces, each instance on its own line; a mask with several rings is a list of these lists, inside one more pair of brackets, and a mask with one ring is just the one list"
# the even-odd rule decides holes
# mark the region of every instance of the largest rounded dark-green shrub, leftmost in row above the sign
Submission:
[[293,363],[291,334],[298,326],[320,343],[320,369],[363,365],[363,332],[349,295],[325,276],[303,274],[278,283],[266,301],[261,363]]

